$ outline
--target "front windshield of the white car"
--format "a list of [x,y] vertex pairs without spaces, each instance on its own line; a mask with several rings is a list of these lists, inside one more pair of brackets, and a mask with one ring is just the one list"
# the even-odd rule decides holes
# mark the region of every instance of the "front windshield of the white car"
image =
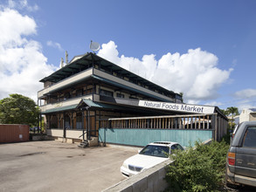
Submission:
[[148,145],[142,149],[140,154],[168,158],[170,154],[170,147]]

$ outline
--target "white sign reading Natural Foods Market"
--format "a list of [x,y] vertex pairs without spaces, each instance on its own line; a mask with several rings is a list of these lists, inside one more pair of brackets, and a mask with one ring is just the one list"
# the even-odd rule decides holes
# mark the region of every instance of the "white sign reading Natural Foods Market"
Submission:
[[214,106],[196,106],[189,104],[177,104],[177,103],[165,103],[165,102],[156,102],[149,100],[140,100],[139,106],[156,108],[156,109],[165,109],[170,111],[177,112],[186,112],[186,113],[214,113]]

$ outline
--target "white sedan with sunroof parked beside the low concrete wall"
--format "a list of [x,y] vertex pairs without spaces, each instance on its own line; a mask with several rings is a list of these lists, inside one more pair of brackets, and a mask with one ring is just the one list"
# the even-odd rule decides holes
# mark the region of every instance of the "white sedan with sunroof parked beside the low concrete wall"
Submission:
[[167,161],[174,149],[184,150],[177,142],[159,141],[149,143],[142,148],[139,154],[129,157],[121,166],[121,174],[125,176],[136,175],[148,168]]

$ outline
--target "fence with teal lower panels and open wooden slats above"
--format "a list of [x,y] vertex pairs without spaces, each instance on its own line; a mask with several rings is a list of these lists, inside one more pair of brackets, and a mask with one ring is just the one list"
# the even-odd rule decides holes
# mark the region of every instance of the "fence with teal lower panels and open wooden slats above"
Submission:
[[99,141],[145,146],[153,141],[177,141],[189,146],[197,140],[220,141],[227,121],[218,113],[168,115],[100,120]]

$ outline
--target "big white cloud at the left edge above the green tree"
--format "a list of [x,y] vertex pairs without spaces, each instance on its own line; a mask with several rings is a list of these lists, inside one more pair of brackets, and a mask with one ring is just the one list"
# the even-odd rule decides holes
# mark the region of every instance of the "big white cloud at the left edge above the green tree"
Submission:
[[7,8],[0,10],[0,26],[0,99],[20,93],[37,100],[37,92],[43,88],[38,80],[55,70],[47,64],[41,45],[29,39],[37,33],[37,24]]

